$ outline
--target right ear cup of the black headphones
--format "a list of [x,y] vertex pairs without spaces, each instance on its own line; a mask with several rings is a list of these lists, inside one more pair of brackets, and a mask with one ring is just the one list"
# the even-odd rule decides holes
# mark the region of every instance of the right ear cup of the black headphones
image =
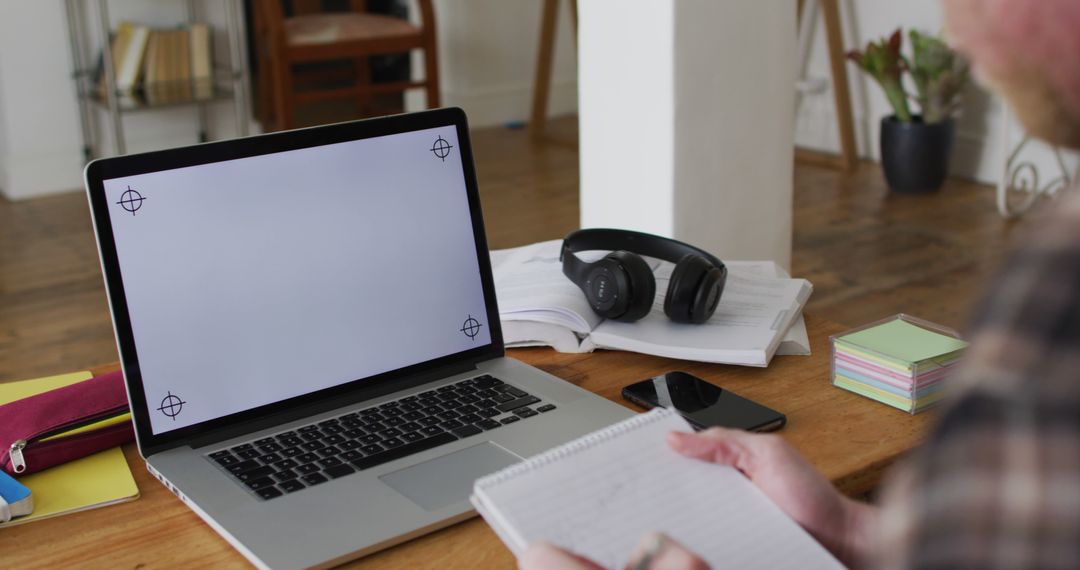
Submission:
[[676,323],[704,323],[716,311],[726,275],[704,257],[683,256],[667,284],[664,313]]

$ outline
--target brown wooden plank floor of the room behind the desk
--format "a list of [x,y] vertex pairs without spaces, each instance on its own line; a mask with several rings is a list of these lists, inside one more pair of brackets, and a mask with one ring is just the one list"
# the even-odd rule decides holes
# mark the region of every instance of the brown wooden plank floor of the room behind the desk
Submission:
[[[578,223],[577,123],[550,142],[525,131],[474,133],[491,247],[561,238]],[[994,192],[949,181],[928,196],[892,195],[880,171],[797,165],[793,273],[809,310],[858,325],[897,312],[962,327],[981,284],[1023,222],[1005,222]],[[0,380],[117,359],[84,194],[0,199]]]

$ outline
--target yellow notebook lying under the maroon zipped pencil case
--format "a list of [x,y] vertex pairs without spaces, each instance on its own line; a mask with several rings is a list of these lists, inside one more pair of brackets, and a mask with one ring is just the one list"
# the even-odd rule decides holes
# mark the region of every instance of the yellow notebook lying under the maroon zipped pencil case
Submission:
[[[90,372],[72,372],[3,382],[0,383],[0,405],[90,378]],[[124,415],[121,418],[104,420],[82,430],[125,420],[131,421],[131,417]],[[0,524],[0,528],[138,499],[138,487],[119,447],[19,477],[18,481],[29,487],[33,493],[33,513]]]

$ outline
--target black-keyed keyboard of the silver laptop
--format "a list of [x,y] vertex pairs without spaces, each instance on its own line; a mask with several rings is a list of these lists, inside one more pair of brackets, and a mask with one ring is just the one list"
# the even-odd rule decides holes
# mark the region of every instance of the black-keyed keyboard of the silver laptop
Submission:
[[275,499],[555,409],[489,375],[210,453]]

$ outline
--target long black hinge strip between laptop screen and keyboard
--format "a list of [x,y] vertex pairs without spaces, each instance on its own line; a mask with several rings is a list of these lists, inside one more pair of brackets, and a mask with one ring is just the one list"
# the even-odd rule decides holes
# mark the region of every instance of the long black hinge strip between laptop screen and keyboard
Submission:
[[[475,362],[462,362],[427,370],[424,372],[413,375],[406,378],[383,380],[373,385],[357,388],[356,390],[343,395],[338,394],[333,397],[327,397],[322,402],[316,402],[305,406],[298,406],[296,408],[292,408],[288,410],[279,411],[276,413],[266,416],[264,418],[259,418],[256,420],[251,420],[243,423],[229,425],[226,428],[219,428],[211,433],[192,437],[190,440],[185,442],[185,444],[183,445],[189,445],[192,448],[198,449],[200,447],[214,445],[218,442],[224,442],[226,439],[231,439],[233,437],[240,437],[241,435],[244,434],[258,432],[260,430],[266,430],[269,428],[273,428],[275,425],[282,425],[292,421],[309,418],[311,416],[315,416],[324,411],[329,411],[333,409],[341,408],[353,404],[360,404],[362,402],[384,396],[387,394],[392,394],[394,392],[400,392],[402,390],[408,390],[410,388],[416,388],[430,382],[435,382],[444,378],[449,378],[455,375],[475,371],[475,370],[476,370]],[[154,452],[160,452],[160,451],[164,451],[164,449],[154,450]]]

